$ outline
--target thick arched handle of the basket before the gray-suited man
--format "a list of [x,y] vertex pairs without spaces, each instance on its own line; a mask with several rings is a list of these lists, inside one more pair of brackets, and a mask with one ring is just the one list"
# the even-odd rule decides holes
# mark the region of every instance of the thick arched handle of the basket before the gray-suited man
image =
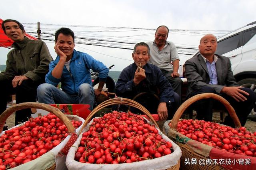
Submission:
[[236,115],[234,108],[230,105],[230,103],[228,103],[228,101],[226,99],[224,99],[220,95],[216,95],[214,93],[202,93],[202,94],[194,95],[193,97],[189,98],[184,103],[182,103],[182,105],[180,105],[180,107],[174,114],[174,117],[172,118],[172,123],[171,123],[170,128],[174,128],[174,129],[177,128],[177,124],[178,124],[178,121],[179,121],[181,115],[192,103],[194,103],[200,99],[209,99],[209,98],[220,101],[226,107],[228,113],[230,114],[230,117],[234,121],[235,127],[241,127],[241,123]]

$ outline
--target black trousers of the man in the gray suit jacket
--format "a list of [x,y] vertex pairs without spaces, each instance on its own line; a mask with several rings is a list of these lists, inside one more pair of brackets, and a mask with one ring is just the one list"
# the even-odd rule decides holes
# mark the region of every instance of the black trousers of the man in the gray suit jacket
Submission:
[[[220,93],[219,95],[226,99],[230,105],[234,108],[236,111],[236,115],[238,116],[238,119],[240,120],[240,123],[242,126],[245,125],[247,116],[252,111],[252,108],[254,107],[254,103],[256,101],[256,94],[254,91],[252,91],[249,88],[241,88],[241,90],[246,91],[249,93],[249,96],[244,95],[247,100],[246,101],[236,101],[229,95],[226,95],[225,93]],[[198,91],[195,91],[192,93],[192,96],[202,93],[216,93],[216,91],[212,87],[204,86],[201,89],[198,89]],[[205,120],[205,121],[212,121],[212,109],[224,109],[225,107],[222,103],[219,101],[216,101],[214,99],[202,99],[200,101],[197,101],[193,104],[192,107],[196,108],[197,117],[198,120]],[[234,122],[230,115],[228,115],[224,120],[224,125],[228,125],[230,127],[234,127]]]

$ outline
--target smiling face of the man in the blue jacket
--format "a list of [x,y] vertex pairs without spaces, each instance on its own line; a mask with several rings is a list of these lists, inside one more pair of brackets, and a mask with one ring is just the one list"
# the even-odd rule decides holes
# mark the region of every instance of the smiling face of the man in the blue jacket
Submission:
[[71,58],[72,57],[72,54],[73,54],[73,51],[74,51],[74,47],[75,47],[75,44],[74,44],[74,41],[73,41],[73,38],[72,36],[68,35],[64,35],[62,33],[60,33],[58,35],[58,39],[57,39],[57,42],[55,43],[58,43],[60,44],[60,50],[68,57],[68,58]]

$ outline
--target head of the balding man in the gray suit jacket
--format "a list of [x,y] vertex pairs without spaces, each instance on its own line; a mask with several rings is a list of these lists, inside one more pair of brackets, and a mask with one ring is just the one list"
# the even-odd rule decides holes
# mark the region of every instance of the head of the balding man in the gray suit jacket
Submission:
[[202,55],[213,55],[217,48],[216,37],[212,34],[205,35],[200,40],[198,48]]

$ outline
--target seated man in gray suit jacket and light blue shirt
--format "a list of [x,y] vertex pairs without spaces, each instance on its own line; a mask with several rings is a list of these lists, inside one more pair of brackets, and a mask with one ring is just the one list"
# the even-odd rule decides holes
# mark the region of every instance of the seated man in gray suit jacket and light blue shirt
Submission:
[[[212,34],[205,35],[198,46],[200,53],[185,62],[185,71],[188,81],[187,98],[201,93],[216,93],[224,97],[234,107],[242,124],[245,125],[247,115],[256,101],[254,91],[240,87],[231,71],[228,57],[216,55],[217,39]],[[212,109],[222,105],[213,99],[204,99],[197,102],[197,119],[212,121]],[[234,127],[228,115],[225,125]]]

